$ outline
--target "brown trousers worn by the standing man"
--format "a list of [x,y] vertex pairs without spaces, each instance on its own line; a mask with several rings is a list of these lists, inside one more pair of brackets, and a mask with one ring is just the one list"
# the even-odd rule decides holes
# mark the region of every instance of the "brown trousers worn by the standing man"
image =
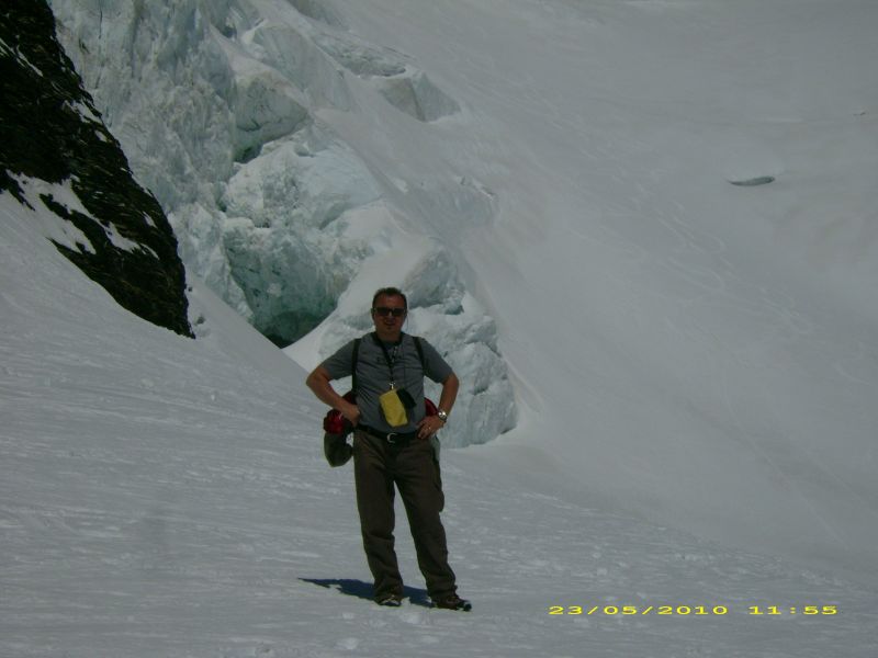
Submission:
[[438,600],[457,591],[448,564],[446,531],[439,512],[444,507],[442,480],[429,441],[413,439],[396,447],[362,431],[353,434],[353,476],[357,508],[375,598],[403,594],[403,578],[393,543],[394,484],[403,498],[418,567],[427,593]]

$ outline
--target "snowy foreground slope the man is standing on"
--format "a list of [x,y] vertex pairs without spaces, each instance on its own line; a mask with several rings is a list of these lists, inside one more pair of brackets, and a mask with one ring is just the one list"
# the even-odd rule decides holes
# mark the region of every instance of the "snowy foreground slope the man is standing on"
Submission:
[[539,441],[442,453],[474,611],[427,606],[404,514],[407,599],[376,606],[305,372],[198,281],[198,340],[125,311],[41,235],[50,220],[0,196],[0,656],[878,651],[874,588],[596,509]]

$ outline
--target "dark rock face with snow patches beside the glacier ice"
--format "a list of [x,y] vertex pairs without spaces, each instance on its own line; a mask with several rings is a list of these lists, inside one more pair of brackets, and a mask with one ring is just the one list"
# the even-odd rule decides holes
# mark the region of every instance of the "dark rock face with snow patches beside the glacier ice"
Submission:
[[69,181],[88,215],[49,194],[41,201],[76,226],[91,249],[53,241],[58,251],[123,307],[192,337],[173,231],[155,197],[134,181],[119,143],[58,44],[45,0],[3,1],[0,89],[0,190],[30,206],[16,178]]

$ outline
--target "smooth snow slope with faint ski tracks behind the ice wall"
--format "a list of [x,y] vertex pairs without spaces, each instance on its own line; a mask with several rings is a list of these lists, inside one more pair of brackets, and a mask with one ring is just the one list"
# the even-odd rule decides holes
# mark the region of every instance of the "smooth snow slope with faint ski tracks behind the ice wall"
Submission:
[[381,192],[362,212],[392,237],[347,229],[376,252],[358,276],[427,231],[495,318],[519,420],[491,450],[532,446],[600,510],[875,582],[878,4],[320,5],[460,107],[308,92]]

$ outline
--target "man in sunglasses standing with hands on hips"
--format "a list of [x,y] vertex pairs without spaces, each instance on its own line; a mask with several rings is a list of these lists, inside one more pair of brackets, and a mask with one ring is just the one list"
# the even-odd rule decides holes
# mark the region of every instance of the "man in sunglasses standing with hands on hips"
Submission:
[[[393,546],[395,485],[403,498],[418,566],[434,605],[469,611],[472,606],[458,595],[454,572],[448,564],[446,532],[439,518],[444,496],[439,462],[430,443],[448,420],[459,382],[448,363],[423,339],[421,359],[415,339],[403,332],[407,313],[406,297],[398,288],[381,288],[372,298],[375,331],[360,341],[354,366],[356,404],[342,398],[330,384],[333,379],[354,374],[351,372],[354,341],[318,365],[306,384],[354,427],[357,509],[363,548],[374,578],[375,602],[398,606],[403,599],[403,579]],[[436,416],[426,416],[425,376],[442,385]],[[397,395],[385,395],[389,392]],[[399,399],[408,408],[397,419]]]

